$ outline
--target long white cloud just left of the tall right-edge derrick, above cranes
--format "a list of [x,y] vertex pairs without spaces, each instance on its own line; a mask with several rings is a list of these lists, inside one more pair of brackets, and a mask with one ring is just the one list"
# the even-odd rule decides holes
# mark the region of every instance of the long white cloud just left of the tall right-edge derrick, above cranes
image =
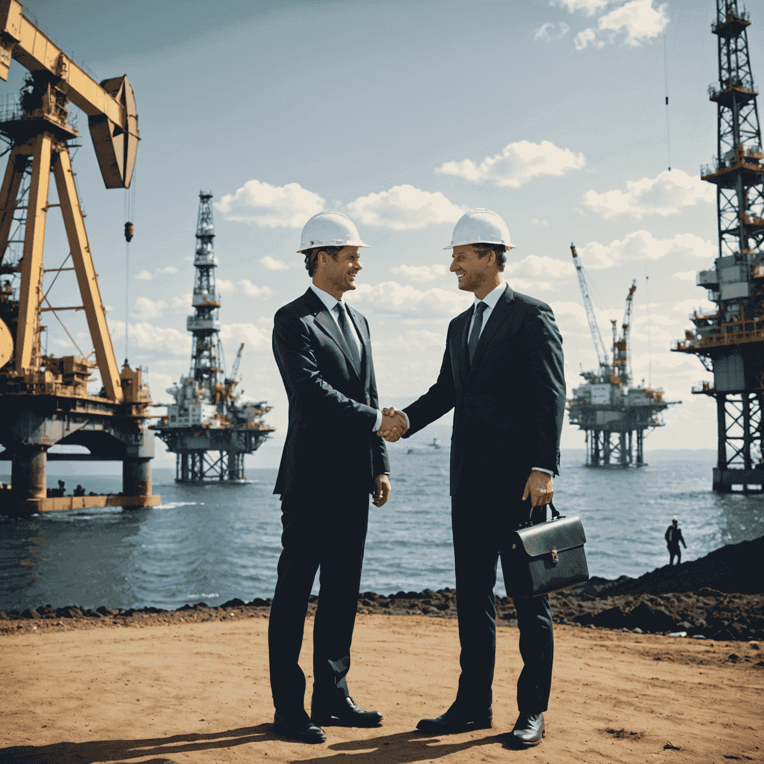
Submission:
[[605,220],[618,215],[631,215],[640,220],[644,215],[675,215],[682,207],[714,202],[714,199],[714,186],[700,176],[681,170],[663,170],[654,178],[630,180],[625,192],[614,189],[600,194],[591,189],[584,194],[584,205]]

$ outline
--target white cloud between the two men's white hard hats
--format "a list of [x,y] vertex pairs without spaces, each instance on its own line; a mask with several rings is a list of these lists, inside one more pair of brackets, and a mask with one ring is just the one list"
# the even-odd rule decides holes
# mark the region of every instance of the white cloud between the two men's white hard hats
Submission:
[[348,211],[364,225],[384,225],[393,231],[411,231],[433,223],[456,222],[467,212],[439,191],[429,193],[409,184],[388,191],[359,196]]

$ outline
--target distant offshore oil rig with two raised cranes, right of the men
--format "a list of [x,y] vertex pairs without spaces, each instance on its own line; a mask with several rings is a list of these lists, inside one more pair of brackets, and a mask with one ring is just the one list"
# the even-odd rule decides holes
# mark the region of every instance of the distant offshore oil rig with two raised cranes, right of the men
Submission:
[[663,400],[663,390],[632,385],[631,310],[636,280],[626,295],[621,335],[617,336],[617,320],[613,325],[613,361],[610,363],[584,275],[581,258],[571,244],[571,254],[589,329],[597,351],[597,371],[581,371],[586,384],[573,390],[568,400],[568,419],[586,432],[586,464],[599,468],[644,467],[645,431],[664,426],[662,412],[679,401]]

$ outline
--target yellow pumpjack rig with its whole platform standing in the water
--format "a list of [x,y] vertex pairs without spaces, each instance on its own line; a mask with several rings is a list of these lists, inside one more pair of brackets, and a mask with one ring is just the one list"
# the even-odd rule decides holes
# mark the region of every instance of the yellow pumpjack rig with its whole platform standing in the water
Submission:
[[[11,461],[11,485],[2,486],[3,514],[73,507],[152,507],[150,461],[154,438],[147,432],[151,396],[141,370],[117,366],[106,325],[98,276],[74,183],[70,144],[79,133],[68,121],[69,102],[88,116],[90,134],[107,189],[127,189],[138,150],[138,115],[125,76],[96,83],[25,18],[18,0],[0,2],[0,77],[8,80],[11,58],[28,70],[18,101],[0,114],[8,163],[0,187],[0,458]],[[58,202],[48,201],[53,173]],[[63,215],[70,253],[44,267],[47,213]],[[72,302],[53,306],[53,282],[76,275]],[[47,274],[51,274],[48,276]],[[55,358],[43,350],[40,317],[52,314],[66,331],[66,311],[83,310],[92,351]],[[67,332],[68,333],[68,332]],[[71,335],[70,335],[71,339]],[[89,348],[87,348],[89,349]],[[95,361],[92,356],[95,354]],[[97,369],[102,389],[88,392]],[[48,453],[53,445],[87,452]],[[63,496],[46,487],[47,461],[122,462],[120,495]]]

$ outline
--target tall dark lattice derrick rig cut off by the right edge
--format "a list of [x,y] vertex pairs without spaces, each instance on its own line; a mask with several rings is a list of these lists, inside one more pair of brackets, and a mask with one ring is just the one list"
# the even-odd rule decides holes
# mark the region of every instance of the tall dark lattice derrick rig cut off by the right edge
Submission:
[[695,283],[708,290],[714,310],[691,313],[693,329],[672,350],[697,355],[713,382],[692,388],[717,403],[718,449],[713,487],[729,493],[764,490],[764,153],[748,50],[751,22],[736,0],[717,0],[719,83],[717,155],[701,178],[717,187],[719,256]]

